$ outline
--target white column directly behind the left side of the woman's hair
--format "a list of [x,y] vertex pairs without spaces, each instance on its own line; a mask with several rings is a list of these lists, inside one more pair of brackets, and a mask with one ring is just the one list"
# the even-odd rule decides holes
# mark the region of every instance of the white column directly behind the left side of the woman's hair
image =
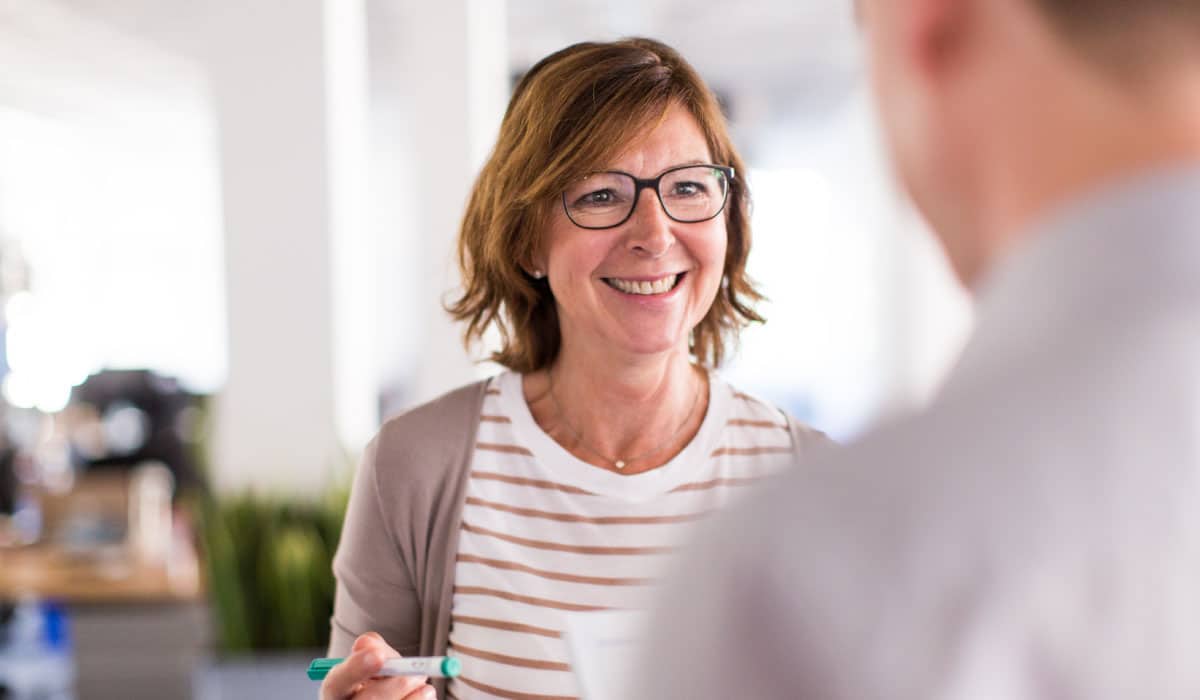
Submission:
[[[467,196],[508,103],[505,2],[406,4],[389,20],[395,31],[383,34],[400,44],[395,73],[386,76],[395,86],[377,84],[377,92],[390,92],[390,108],[377,112],[374,132],[407,157],[390,173],[403,195],[382,183],[373,187],[373,209],[385,213],[379,221],[388,227],[379,231],[380,250],[391,251],[382,286],[403,295],[384,300],[397,312],[385,322],[382,366],[385,382],[401,384],[402,405],[412,406],[481,371],[443,304],[460,283],[454,255]],[[372,173],[385,169],[377,164]]]

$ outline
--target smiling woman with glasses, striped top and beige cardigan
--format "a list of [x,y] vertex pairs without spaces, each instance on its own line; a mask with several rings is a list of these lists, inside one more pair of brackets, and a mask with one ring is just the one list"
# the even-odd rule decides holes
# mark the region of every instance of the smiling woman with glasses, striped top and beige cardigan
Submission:
[[330,653],[352,653],[325,698],[433,698],[372,678],[397,653],[458,658],[462,700],[577,695],[564,616],[644,605],[697,519],[823,441],[712,370],[761,321],[742,177],[712,91],[659,42],[524,76],[450,309],[468,342],[498,328],[510,371],[367,448],[334,563]]

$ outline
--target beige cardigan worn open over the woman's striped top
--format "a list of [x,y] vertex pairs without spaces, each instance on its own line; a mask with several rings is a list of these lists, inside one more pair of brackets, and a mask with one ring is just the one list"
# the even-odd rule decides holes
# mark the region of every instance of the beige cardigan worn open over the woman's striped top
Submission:
[[[440,656],[450,636],[455,557],[487,382],[388,420],[354,477],[334,556],[329,656],[378,632],[403,656]],[[827,444],[787,418],[797,457]],[[444,692],[438,686],[439,698]]]

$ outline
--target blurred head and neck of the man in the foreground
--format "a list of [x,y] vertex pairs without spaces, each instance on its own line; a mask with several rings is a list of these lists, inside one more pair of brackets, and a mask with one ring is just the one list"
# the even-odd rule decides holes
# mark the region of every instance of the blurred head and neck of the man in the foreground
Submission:
[[973,286],[1033,220],[1200,158],[1200,0],[858,0],[899,178]]

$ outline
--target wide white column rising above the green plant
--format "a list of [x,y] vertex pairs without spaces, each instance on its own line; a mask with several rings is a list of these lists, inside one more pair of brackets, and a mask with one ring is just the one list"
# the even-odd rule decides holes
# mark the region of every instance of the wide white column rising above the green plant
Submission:
[[362,322],[372,311],[359,306],[372,287],[358,202],[361,13],[354,0],[247,0],[212,23],[204,58],[229,324],[214,450],[221,489],[317,492],[343,460],[340,431],[356,450],[373,423],[374,343]]

